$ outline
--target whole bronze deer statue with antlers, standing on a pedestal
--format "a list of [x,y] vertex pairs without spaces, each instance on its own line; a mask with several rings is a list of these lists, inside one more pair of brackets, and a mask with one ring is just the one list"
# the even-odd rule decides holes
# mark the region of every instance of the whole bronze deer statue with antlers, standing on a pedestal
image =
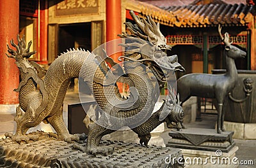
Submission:
[[202,74],[193,73],[186,74],[177,80],[178,92],[180,94],[180,101],[184,102],[191,96],[215,98],[218,102],[218,120],[217,132],[220,134],[225,131],[223,122],[225,111],[223,111],[223,103],[228,99],[228,93],[233,90],[237,83],[237,69],[234,59],[245,57],[246,52],[240,50],[229,42],[228,33],[224,37],[221,35],[221,27],[219,25],[218,32],[221,40],[225,44],[223,55],[226,58],[225,74]]

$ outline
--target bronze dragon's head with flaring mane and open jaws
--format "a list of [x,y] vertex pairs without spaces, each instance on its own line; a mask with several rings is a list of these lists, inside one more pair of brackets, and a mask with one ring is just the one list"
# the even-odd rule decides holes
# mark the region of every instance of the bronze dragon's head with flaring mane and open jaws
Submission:
[[177,55],[167,55],[167,51],[171,50],[171,46],[166,44],[166,38],[159,29],[159,23],[155,23],[150,16],[140,19],[133,11],[130,11],[131,17],[136,24],[125,22],[127,29],[131,34],[122,32],[118,34],[121,38],[126,38],[126,50],[138,53],[136,57],[124,57],[125,59],[143,62],[148,66],[157,80],[166,81],[164,71],[185,71],[178,62]]

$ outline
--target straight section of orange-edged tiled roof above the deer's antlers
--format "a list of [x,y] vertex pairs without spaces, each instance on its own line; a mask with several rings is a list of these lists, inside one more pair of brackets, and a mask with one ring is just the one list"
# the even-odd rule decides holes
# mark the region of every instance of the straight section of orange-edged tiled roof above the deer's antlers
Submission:
[[164,10],[172,14],[169,25],[173,27],[246,26],[255,17],[253,6],[246,4],[189,4],[169,6]]

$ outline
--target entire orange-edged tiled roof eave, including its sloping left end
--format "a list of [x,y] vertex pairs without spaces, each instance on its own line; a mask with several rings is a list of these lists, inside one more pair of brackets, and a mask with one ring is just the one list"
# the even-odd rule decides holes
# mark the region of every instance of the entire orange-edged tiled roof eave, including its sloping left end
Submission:
[[252,5],[247,4],[189,4],[158,8],[141,1],[125,1],[126,9],[136,9],[140,17],[150,15],[155,22],[171,27],[246,26],[255,17]]

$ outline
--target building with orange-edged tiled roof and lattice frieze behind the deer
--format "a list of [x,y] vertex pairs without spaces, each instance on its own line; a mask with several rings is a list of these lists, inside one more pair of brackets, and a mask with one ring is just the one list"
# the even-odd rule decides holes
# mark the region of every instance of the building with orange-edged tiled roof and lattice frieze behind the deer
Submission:
[[[247,53],[236,60],[237,69],[256,69],[255,4],[253,1],[145,1],[168,11],[155,18],[168,25],[165,32],[173,53],[179,55],[186,73],[211,73],[225,68],[218,25],[228,31],[233,45]],[[147,8],[145,11],[152,9]],[[152,12],[149,12],[152,13]]]

